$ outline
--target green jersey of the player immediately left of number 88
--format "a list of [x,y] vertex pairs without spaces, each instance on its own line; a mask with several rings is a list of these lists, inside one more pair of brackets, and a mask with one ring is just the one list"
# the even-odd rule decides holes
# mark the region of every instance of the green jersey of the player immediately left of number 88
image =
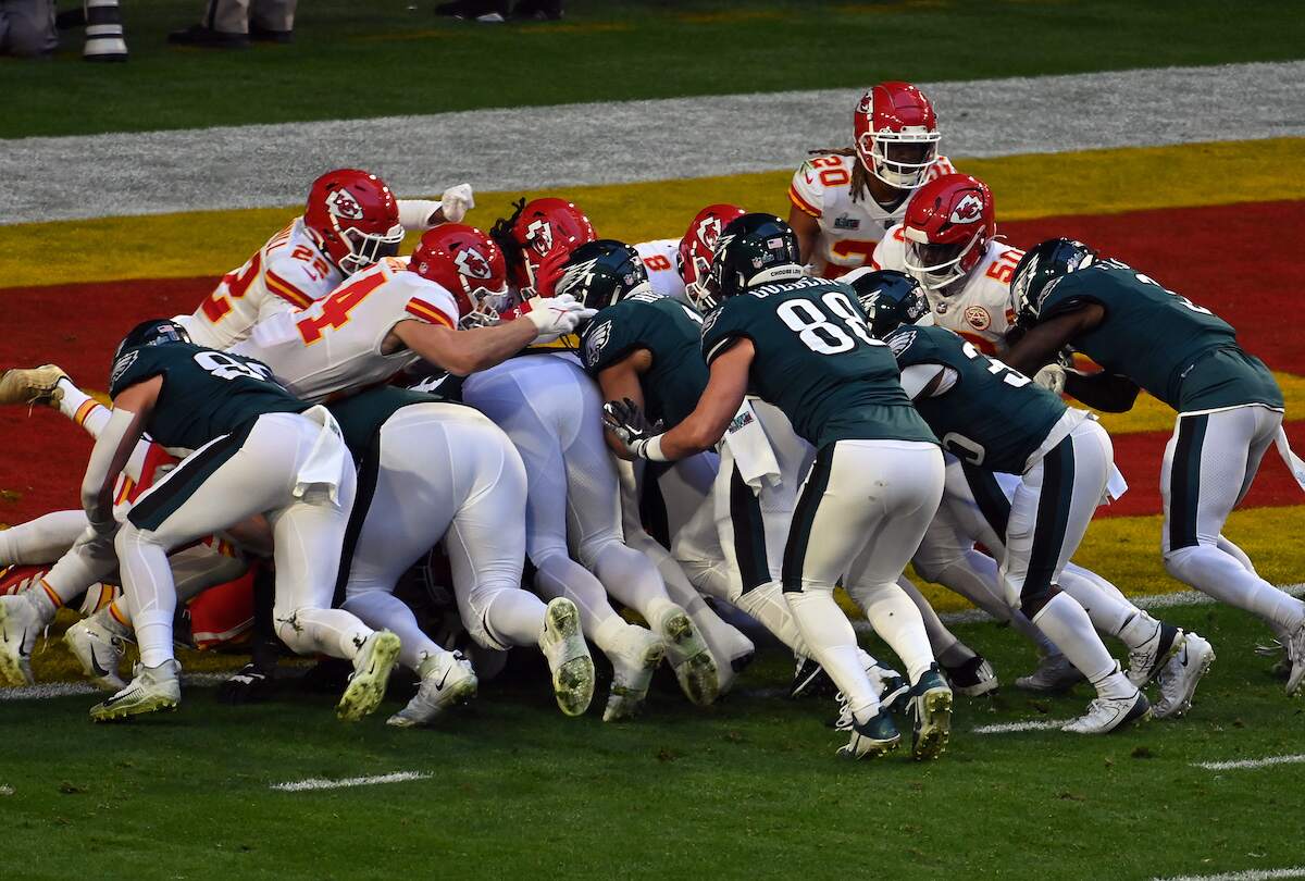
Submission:
[[701,342],[702,317],[659,294],[636,294],[602,309],[579,338],[585,372],[592,377],[633,351],[651,352],[652,367],[639,377],[643,410],[667,428],[693,412],[707,386]]

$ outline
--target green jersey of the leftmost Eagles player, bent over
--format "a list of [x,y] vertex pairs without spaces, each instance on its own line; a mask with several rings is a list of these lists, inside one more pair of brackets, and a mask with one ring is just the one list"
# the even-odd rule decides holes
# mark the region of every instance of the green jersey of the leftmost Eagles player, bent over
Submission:
[[309,403],[286,392],[271,368],[252,358],[193,343],[132,348],[114,363],[108,393],[163,377],[145,431],[168,448],[198,449],[265,412],[303,412]]

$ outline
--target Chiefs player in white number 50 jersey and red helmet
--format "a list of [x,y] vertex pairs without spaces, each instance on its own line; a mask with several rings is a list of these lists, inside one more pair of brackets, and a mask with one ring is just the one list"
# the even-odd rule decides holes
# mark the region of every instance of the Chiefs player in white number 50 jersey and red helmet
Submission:
[[1010,277],[1023,256],[997,239],[988,185],[947,174],[916,191],[903,222],[874,249],[873,266],[916,278],[934,322],[990,355],[1005,348],[1015,318]]

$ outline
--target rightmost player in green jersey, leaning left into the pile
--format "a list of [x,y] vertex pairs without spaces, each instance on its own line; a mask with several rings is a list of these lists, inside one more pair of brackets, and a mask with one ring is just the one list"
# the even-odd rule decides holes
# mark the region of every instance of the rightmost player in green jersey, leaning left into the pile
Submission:
[[[1274,629],[1292,663],[1287,693],[1296,693],[1305,681],[1305,603],[1261,578],[1223,535],[1275,441],[1305,487],[1305,466],[1282,431],[1283,393],[1272,373],[1210,309],[1079,241],[1049,239],[1030,251],[1010,291],[1027,330],[1007,354],[1013,367],[1047,371],[1099,410],[1129,410],[1146,389],[1177,411],[1160,470],[1165,569]],[[1103,371],[1053,364],[1066,346]]]

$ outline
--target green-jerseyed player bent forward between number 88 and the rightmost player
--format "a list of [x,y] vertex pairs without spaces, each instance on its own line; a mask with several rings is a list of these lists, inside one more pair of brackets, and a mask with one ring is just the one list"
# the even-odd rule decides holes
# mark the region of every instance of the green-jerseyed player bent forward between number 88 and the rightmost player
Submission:
[[1107,734],[1146,718],[1146,696],[1058,586],[1105,493],[1113,458],[1105,429],[955,333],[915,324],[929,313],[916,286],[882,285],[863,303],[870,332],[891,347],[902,386],[944,448],[971,467],[1022,475],[1000,546],[1005,600],[1045,630],[1098,693],[1064,730]]

